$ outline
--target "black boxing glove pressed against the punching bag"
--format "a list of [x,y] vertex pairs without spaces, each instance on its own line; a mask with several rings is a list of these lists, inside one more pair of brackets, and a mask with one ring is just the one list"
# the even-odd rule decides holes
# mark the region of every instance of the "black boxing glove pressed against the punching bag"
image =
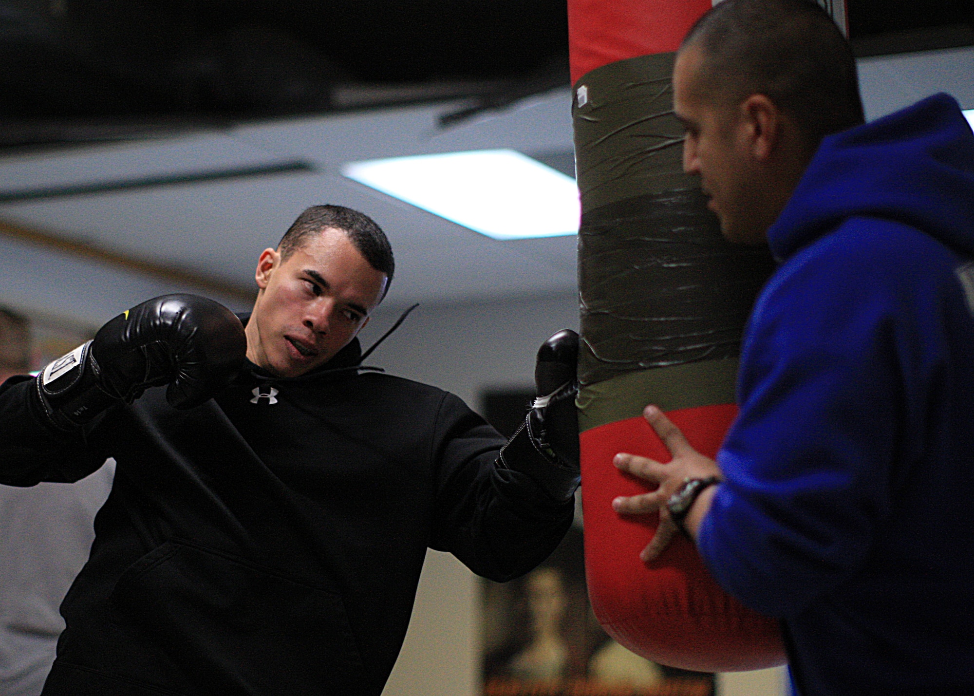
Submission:
[[575,331],[562,329],[544,341],[535,364],[538,398],[499,459],[507,469],[529,474],[556,500],[571,498],[581,480],[578,362]]

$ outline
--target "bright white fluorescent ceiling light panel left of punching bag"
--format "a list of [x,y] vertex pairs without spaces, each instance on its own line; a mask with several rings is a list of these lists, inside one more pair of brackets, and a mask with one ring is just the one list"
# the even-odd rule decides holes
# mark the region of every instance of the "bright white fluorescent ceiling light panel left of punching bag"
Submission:
[[514,150],[354,162],[342,174],[494,239],[579,231],[575,179]]

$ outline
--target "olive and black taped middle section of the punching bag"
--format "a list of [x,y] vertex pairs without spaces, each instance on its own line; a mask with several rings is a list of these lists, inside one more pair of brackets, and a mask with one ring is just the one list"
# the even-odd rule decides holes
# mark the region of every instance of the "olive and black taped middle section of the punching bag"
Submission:
[[575,86],[582,430],[733,401],[740,337],[773,261],[732,245],[673,115],[674,54],[592,70]]

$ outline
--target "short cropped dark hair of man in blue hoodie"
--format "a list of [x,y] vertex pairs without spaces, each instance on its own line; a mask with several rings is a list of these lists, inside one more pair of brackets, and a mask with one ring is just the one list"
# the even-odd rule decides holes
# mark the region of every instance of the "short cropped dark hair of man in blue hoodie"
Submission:
[[738,103],[765,95],[812,151],[865,120],[852,49],[811,0],[724,0],[693,25],[688,47],[701,50],[705,89]]

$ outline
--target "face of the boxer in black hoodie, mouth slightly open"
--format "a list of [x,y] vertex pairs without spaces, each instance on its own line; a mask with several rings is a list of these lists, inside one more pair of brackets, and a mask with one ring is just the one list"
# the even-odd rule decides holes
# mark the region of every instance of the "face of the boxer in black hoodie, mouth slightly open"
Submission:
[[246,326],[247,358],[280,377],[324,365],[355,338],[379,303],[387,277],[345,232],[325,229],[281,260],[265,250],[260,291]]

